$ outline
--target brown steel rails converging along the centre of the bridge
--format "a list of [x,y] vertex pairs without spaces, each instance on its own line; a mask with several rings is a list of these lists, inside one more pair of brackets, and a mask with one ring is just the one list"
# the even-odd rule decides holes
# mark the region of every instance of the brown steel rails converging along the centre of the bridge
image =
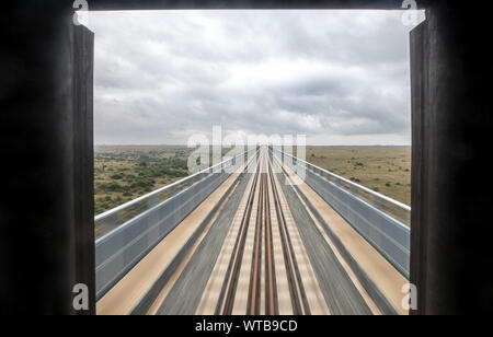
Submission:
[[[252,218],[254,205],[256,206],[256,212]],[[274,258],[273,209],[276,214],[275,222],[277,229],[275,232],[278,235],[277,241],[280,242],[293,313],[296,315],[310,314],[310,306],[307,301],[300,270],[287,226],[285,208],[282,206],[273,166],[267,160],[266,153],[261,154],[253,177],[246,209],[243,213],[240,231],[229,262],[228,271],[215,311],[216,314],[230,315],[233,313],[238,282],[242,277],[241,266],[242,264],[248,263],[248,258],[244,258],[244,255],[249,231],[253,231],[253,247],[250,258],[250,287],[245,314],[276,315],[279,313],[276,286],[276,263]]]

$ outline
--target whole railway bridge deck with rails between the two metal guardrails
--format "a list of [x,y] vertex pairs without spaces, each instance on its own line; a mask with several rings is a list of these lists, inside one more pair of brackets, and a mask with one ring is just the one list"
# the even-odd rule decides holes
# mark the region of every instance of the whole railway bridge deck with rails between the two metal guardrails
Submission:
[[[125,305],[135,314],[392,313],[387,310],[390,306],[386,298],[362,279],[339,239],[326,232],[322,216],[330,217],[330,223],[349,247],[357,244],[351,247],[353,252],[372,256],[368,262],[363,257],[365,264],[378,258],[375,253],[366,243],[359,243],[357,234],[325,204],[318,201],[317,207],[311,207],[303,197],[311,193],[306,186],[301,190],[285,185],[285,179],[294,183],[296,175],[270,154],[268,149],[261,149],[256,162],[249,161],[229,185],[221,187],[223,190],[215,196],[219,204],[211,202],[216,207],[192,213],[172,233],[182,239],[167,237],[162,247],[158,246],[105,299],[104,307],[118,307],[121,299],[127,299]],[[316,200],[317,196],[311,198]],[[200,226],[195,219],[204,219]],[[184,241],[188,236],[195,241],[181,247],[182,241],[190,242]],[[170,247],[177,254],[170,254]],[[157,263],[160,259],[167,266]],[[388,268],[379,264],[366,270],[379,281],[382,267]],[[156,280],[148,282],[149,290],[126,297],[128,290],[139,289],[142,276],[150,272]],[[399,282],[395,278],[387,284]]]

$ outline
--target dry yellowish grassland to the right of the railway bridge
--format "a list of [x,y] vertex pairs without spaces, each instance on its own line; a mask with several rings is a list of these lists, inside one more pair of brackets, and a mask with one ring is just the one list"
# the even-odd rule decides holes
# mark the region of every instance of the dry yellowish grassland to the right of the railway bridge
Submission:
[[307,147],[307,161],[411,205],[409,147]]

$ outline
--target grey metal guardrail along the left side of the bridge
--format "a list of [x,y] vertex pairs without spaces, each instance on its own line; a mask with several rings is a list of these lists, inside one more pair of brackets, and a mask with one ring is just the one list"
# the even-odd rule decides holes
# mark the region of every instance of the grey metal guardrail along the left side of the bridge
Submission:
[[[112,230],[95,242],[96,299],[113,288],[253,151],[98,216],[95,223]],[[242,156],[244,160],[239,160]],[[230,170],[226,172],[227,167]]]

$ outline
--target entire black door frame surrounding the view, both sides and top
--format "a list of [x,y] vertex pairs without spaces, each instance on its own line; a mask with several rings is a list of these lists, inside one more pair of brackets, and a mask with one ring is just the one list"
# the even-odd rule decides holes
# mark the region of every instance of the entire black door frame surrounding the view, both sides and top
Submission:
[[[94,293],[91,34],[72,24],[69,3],[45,2],[12,1],[0,21],[8,50],[0,138],[12,162],[0,204],[0,312],[94,314],[93,297],[88,311],[72,307],[74,283]],[[88,2],[90,10],[401,9],[393,0]],[[493,126],[490,20],[454,1],[417,4],[427,20],[411,34],[413,313],[484,311],[493,291],[478,274],[492,255],[491,179],[472,179],[484,173]]]

